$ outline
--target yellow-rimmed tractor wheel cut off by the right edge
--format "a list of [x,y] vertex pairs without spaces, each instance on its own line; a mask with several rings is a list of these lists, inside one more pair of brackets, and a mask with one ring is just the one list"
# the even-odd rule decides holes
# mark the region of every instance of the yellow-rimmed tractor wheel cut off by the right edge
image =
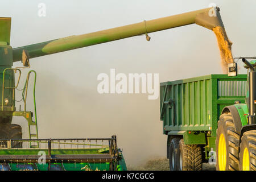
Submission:
[[243,133],[239,158],[240,171],[256,171],[256,130]]

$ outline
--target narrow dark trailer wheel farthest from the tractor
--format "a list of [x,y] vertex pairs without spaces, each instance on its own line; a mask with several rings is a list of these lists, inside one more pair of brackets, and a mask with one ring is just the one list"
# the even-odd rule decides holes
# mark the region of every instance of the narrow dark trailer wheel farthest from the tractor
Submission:
[[170,143],[169,164],[170,171],[177,171],[177,149],[179,147],[179,138],[173,138]]

